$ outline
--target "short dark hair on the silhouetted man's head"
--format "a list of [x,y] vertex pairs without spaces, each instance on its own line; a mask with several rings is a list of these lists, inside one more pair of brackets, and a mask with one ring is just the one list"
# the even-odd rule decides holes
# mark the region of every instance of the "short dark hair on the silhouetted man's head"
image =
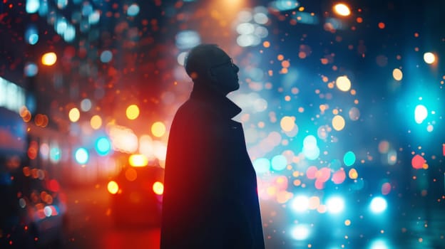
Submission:
[[[216,44],[203,43],[195,46],[185,57],[185,72],[187,72],[193,80],[205,78],[208,66],[212,63],[213,58],[220,55],[218,53],[220,51],[223,50]],[[200,75],[203,75],[203,77],[200,77]]]

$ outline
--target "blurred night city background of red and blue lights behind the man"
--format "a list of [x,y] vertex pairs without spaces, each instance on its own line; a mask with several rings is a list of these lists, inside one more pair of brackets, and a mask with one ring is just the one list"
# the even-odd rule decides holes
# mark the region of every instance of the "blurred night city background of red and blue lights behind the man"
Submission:
[[445,248],[443,11],[1,1],[0,247],[158,248],[168,132],[193,87],[184,58],[217,43],[240,66],[228,97],[267,248]]

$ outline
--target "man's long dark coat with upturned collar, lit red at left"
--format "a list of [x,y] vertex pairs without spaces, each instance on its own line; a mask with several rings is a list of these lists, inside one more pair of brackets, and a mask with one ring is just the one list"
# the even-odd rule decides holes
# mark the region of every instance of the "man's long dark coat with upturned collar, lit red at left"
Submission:
[[160,248],[265,248],[240,107],[196,87],[168,139]]

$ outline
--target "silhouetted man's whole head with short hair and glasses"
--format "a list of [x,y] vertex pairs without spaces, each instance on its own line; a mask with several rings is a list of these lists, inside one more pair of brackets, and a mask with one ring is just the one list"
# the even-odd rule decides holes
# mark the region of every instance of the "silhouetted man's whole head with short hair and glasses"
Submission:
[[185,71],[195,84],[209,85],[227,95],[240,88],[232,58],[215,44],[200,44],[185,58]]

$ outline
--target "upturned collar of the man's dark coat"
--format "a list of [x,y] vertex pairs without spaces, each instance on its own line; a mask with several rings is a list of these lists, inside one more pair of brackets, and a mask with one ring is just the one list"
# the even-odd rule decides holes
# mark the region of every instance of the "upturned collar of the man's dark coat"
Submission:
[[219,94],[206,85],[198,85],[195,83],[190,94],[190,100],[203,100],[208,103],[215,112],[220,113],[220,115],[228,119],[232,119],[241,112],[241,108],[232,102],[232,100],[229,100],[224,95]]

